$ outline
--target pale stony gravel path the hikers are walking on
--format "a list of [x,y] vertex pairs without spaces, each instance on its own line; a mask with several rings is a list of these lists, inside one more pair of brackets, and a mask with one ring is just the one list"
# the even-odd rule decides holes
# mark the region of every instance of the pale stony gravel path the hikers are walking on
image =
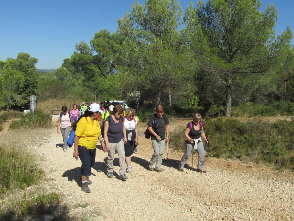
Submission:
[[[186,125],[188,120],[171,123]],[[293,220],[294,175],[252,163],[206,158],[205,169],[199,173],[189,166],[177,170],[181,152],[169,151],[163,160],[163,173],[149,171],[148,161],[153,153],[145,139],[145,127],[140,127],[138,154],[133,154],[132,173],[128,181],[106,176],[107,153],[97,146],[96,162],[90,177],[91,193],[80,190],[81,161],[72,158],[73,148],[64,152],[62,136],[56,128],[13,130],[5,137],[16,136],[29,143],[31,151],[40,156],[46,171],[49,189],[62,192],[70,214],[85,220]],[[28,136],[30,137],[28,139]],[[39,144],[39,140],[44,141]],[[30,141],[29,141],[30,140]],[[60,144],[60,145],[59,145]],[[166,157],[166,150],[164,152]],[[197,154],[194,164],[197,164]],[[188,161],[191,165],[191,158]],[[118,172],[118,156],[114,160]],[[194,165],[194,167],[197,165]]]

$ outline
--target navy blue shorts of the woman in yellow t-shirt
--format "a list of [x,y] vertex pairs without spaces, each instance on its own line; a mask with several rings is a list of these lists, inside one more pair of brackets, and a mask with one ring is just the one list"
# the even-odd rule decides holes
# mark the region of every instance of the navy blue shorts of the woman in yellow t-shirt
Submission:
[[82,162],[81,175],[90,176],[91,168],[95,163],[96,148],[90,150],[84,146],[78,145],[78,156]]

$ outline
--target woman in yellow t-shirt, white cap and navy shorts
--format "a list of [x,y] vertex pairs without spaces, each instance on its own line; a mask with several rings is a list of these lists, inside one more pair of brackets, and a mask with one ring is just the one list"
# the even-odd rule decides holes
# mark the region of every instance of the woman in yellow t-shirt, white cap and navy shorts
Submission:
[[89,176],[91,175],[91,168],[95,163],[97,140],[101,143],[102,151],[105,152],[106,150],[98,122],[99,112],[103,112],[100,109],[100,105],[96,103],[91,104],[88,110],[78,119],[76,125],[73,158],[78,160],[78,157],[80,157],[82,162],[81,190],[84,192],[91,192],[88,187],[92,183],[89,180]]

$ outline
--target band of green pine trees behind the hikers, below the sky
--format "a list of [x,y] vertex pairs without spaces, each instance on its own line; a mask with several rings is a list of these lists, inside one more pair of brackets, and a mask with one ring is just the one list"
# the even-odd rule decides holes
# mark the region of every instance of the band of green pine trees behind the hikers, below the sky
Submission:
[[[115,33],[81,39],[53,73],[37,73],[27,53],[0,61],[0,109],[27,108],[31,94],[134,104],[138,91],[140,108],[161,103],[172,115],[240,115],[247,103],[272,107],[250,116],[275,114],[272,103],[294,101],[293,35],[289,27],[276,34],[277,9],[260,4],[198,1],[184,11],[176,0],[134,2]],[[293,112],[287,108],[283,114]]]

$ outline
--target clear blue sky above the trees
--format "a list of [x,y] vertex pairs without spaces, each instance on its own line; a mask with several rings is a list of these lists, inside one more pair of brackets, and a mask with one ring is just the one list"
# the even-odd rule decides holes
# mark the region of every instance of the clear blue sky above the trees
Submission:
[[[191,0],[179,2],[186,11]],[[193,1],[194,6],[196,2]],[[89,43],[101,29],[115,32],[117,19],[131,11],[133,3],[133,0],[2,1],[0,60],[16,58],[19,52],[25,52],[38,58],[38,69],[56,69],[64,58],[70,58],[77,42]],[[261,0],[261,11],[270,3],[278,10],[276,34],[281,34],[287,25],[294,33],[294,1]]]

